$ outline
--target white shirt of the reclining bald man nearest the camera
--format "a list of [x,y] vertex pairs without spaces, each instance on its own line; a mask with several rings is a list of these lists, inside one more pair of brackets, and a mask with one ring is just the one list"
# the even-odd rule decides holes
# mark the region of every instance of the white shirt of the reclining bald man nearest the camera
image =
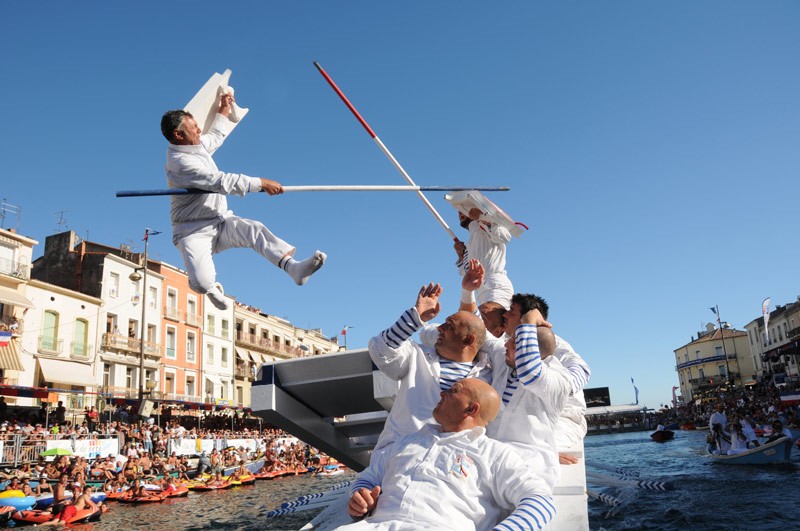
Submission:
[[498,524],[503,511],[517,509],[506,522],[516,523],[514,529],[538,529],[555,508],[547,485],[525,465],[510,445],[487,438],[483,428],[442,433],[426,425],[373,460],[351,492],[381,486],[370,524],[484,530]]

